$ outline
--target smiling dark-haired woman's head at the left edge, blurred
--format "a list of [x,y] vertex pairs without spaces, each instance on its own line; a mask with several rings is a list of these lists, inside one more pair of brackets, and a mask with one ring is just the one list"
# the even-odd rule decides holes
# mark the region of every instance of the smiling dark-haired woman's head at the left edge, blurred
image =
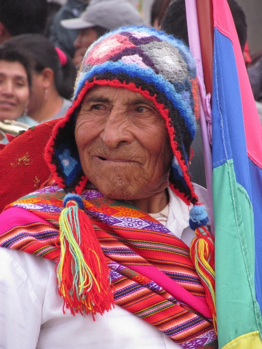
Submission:
[[[31,59],[8,42],[0,45],[0,143],[8,143],[5,120],[17,120],[26,112],[31,87]],[[24,125],[25,126],[25,125]],[[26,129],[26,127],[24,127]]]

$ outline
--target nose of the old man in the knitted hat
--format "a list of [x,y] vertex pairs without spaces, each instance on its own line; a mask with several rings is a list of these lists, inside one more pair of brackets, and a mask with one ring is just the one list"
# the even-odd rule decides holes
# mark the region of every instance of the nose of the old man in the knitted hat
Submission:
[[134,136],[130,127],[131,125],[124,113],[120,114],[118,111],[112,110],[105,121],[100,138],[111,149],[116,148],[121,142],[131,143]]

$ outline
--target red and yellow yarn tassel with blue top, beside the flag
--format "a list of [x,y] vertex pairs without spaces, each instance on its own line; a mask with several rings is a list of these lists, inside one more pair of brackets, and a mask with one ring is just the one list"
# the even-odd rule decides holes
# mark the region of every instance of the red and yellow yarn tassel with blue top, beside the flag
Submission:
[[197,274],[205,289],[213,324],[217,334],[215,298],[215,239],[204,226],[208,216],[203,205],[195,205],[190,210],[190,227],[195,230],[196,238],[190,247],[190,256]]

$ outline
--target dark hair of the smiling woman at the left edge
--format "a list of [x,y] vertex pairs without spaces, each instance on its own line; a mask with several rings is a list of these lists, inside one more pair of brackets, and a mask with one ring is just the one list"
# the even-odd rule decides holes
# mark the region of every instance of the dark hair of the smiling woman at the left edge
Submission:
[[32,59],[27,51],[5,42],[0,45],[0,61],[18,62],[25,68],[29,88],[31,87]]

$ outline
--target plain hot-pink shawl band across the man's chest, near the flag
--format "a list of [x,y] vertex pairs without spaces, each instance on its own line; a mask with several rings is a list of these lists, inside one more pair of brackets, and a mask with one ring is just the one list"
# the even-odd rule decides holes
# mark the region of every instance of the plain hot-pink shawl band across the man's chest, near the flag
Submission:
[[169,292],[175,299],[181,300],[188,304],[204,317],[210,319],[212,315],[205,299],[200,299],[192,295],[185,288],[180,286],[176,281],[169,278],[154,266],[145,265],[126,265],[128,268],[135,270],[135,272],[144,275],[150,280],[153,280],[167,292]]

